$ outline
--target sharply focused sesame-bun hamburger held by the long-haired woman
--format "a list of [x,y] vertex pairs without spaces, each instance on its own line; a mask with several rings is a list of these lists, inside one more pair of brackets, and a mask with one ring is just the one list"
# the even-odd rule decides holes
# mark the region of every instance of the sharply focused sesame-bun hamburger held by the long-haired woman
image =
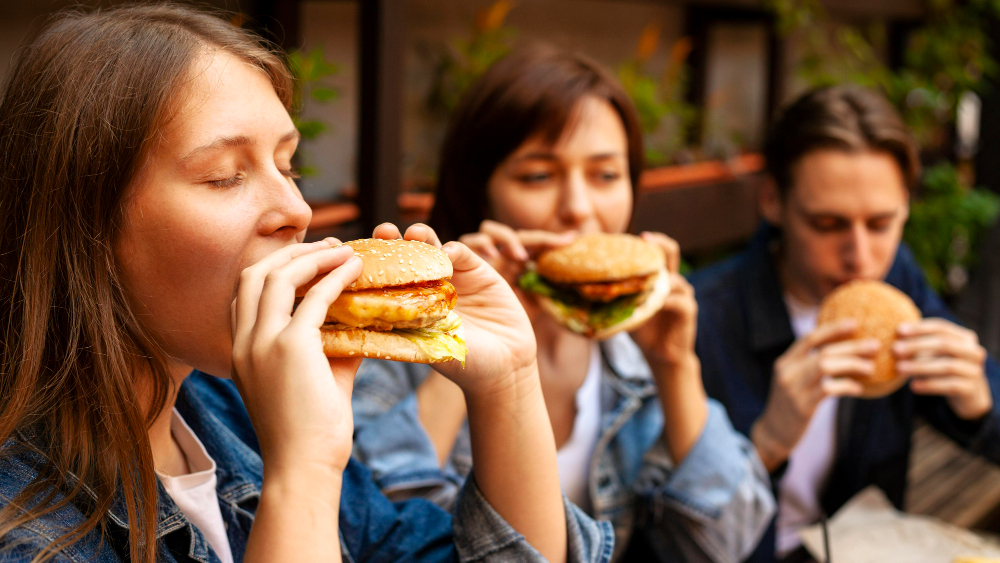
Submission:
[[328,357],[465,362],[462,320],[453,310],[458,294],[448,281],[452,266],[444,252],[402,239],[344,244],[361,258],[362,269],[320,328]]

